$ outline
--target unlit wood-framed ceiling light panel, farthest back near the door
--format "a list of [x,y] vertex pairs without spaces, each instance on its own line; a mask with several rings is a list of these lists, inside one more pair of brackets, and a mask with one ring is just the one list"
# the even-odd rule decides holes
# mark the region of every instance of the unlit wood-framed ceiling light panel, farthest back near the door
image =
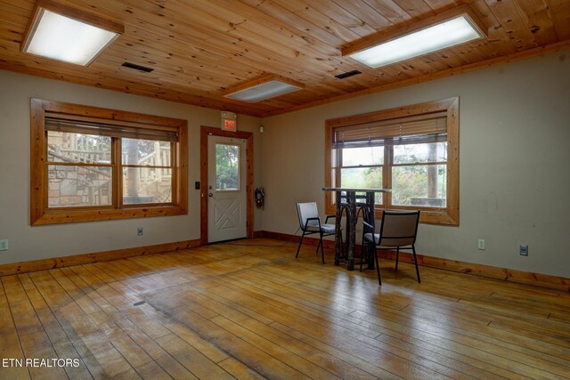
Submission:
[[281,77],[275,74],[266,74],[256,77],[241,85],[236,85],[225,90],[222,95],[225,98],[234,99],[236,101],[248,101],[255,103],[257,101],[265,101],[285,93],[293,93],[294,91],[305,88],[300,82]]

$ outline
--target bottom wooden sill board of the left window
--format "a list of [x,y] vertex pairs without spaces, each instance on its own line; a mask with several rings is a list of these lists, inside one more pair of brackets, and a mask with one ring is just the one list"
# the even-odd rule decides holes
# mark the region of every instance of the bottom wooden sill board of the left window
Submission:
[[96,222],[116,219],[147,218],[153,216],[183,215],[187,210],[182,206],[142,206],[123,209],[97,210],[46,210],[32,226],[72,222]]

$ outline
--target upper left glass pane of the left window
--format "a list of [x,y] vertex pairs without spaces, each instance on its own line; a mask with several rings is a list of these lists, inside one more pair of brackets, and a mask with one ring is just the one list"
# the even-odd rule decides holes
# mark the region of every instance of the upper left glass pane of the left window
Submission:
[[47,161],[110,164],[110,137],[48,131]]

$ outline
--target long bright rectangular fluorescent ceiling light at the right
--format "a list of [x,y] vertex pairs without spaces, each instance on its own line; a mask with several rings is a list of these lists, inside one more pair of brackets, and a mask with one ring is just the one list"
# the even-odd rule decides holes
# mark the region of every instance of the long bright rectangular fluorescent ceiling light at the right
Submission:
[[435,24],[418,28],[412,32],[405,33],[403,31],[399,36],[382,41],[379,44],[372,44],[371,47],[364,50],[362,50],[362,44],[358,44],[360,47],[358,51],[352,47],[347,49],[351,52],[343,52],[343,54],[366,66],[377,69],[484,36],[485,34],[471,15],[464,12],[451,19],[440,20]]

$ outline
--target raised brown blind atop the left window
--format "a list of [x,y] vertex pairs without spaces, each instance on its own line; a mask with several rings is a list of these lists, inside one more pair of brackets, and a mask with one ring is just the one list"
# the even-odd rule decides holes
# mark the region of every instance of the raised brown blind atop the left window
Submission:
[[45,130],[68,133],[84,133],[126,139],[178,141],[175,127],[150,128],[123,124],[106,124],[85,120],[45,117]]

